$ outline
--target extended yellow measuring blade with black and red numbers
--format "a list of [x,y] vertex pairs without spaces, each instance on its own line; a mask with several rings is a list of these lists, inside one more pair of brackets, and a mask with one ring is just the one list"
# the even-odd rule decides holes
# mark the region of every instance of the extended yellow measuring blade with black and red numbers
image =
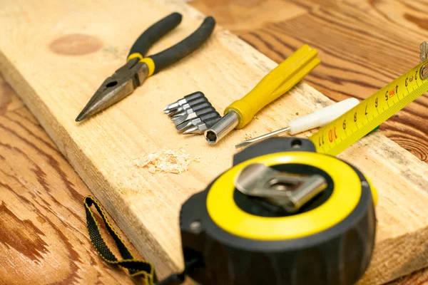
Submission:
[[428,61],[425,60],[320,128],[309,139],[317,147],[317,152],[338,155],[424,94],[428,90],[427,77]]

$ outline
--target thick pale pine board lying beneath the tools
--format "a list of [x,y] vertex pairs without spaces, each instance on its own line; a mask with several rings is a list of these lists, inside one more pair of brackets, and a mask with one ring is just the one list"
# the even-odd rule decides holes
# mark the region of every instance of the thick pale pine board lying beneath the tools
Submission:
[[[52,0],[44,6],[5,1],[0,9],[0,25],[6,27],[0,38],[1,72],[136,248],[156,264],[160,276],[181,267],[180,204],[230,167],[233,144],[245,134],[280,128],[297,113],[305,115],[332,103],[300,83],[265,108],[259,120],[220,145],[209,147],[203,138],[176,134],[162,113],[166,103],[203,90],[221,110],[275,67],[272,60],[218,27],[191,58],[149,78],[114,108],[74,123],[93,90],[123,64],[142,27],[173,10],[185,14],[183,24],[153,51],[193,31],[202,15],[181,2],[166,6],[148,0],[103,1],[103,6],[83,0],[73,4]],[[180,175],[153,175],[136,165],[143,155],[163,147],[183,147],[193,157],[202,157]],[[419,250],[427,247],[427,165],[379,133],[340,157],[372,177],[379,190],[377,247],[362,284],[380,284],[428,265],[427,254]]]

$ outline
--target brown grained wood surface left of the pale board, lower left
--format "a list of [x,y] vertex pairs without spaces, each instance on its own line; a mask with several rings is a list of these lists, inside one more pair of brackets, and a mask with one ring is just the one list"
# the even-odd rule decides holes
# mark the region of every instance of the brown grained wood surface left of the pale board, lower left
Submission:
[[93,249],[91,192],[23,105],[0,78],[0,284],[133,284]]

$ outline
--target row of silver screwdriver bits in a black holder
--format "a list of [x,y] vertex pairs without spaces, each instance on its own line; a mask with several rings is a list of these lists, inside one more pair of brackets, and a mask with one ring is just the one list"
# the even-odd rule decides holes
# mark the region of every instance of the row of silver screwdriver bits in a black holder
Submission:
[[201,135],[221,118],[200,91],[185,95],[184,98],[166,105],[163,112],[170,116],[175,128],[184,135]]

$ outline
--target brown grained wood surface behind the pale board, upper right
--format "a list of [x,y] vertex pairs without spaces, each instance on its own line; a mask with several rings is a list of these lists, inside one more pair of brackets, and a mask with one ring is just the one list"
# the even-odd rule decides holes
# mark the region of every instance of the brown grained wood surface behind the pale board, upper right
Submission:
[[[367,98],[419,62],[428,39],[427,1],[194,0],[195,8],[280,63],[303,43],[320,51],[321,66],[305,82],[339,101]],[[266,9],[267,7],[267,9]],[[428,162],[428,95],[380,130]]]

